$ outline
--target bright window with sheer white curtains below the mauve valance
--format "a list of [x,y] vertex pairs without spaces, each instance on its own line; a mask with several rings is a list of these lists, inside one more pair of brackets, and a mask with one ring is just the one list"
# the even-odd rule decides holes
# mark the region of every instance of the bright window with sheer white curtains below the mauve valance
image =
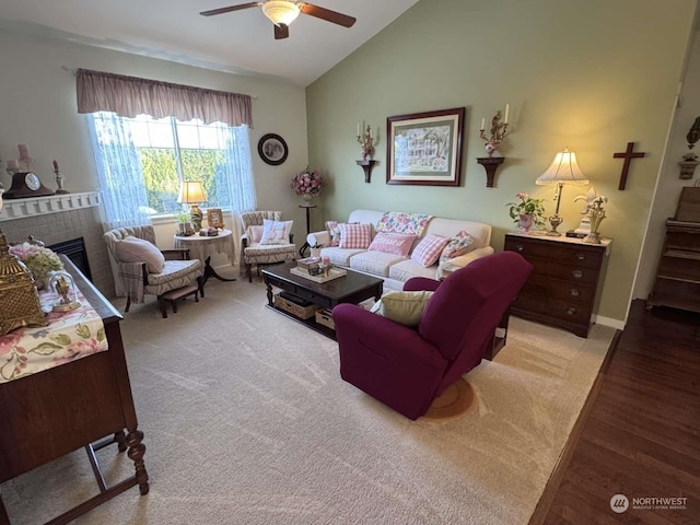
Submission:
[[90,117],[109,223],[141,222],[135,209],[142,215],[180,211],[182,180],[202,183],[206,208],[255,209],[247,126],[107,112]]

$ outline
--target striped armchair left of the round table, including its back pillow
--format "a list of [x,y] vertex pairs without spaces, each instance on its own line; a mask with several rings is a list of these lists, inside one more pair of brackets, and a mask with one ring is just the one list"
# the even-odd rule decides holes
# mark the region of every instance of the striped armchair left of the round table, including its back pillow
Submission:
[[166,318],[163,294],[192,282],[205,296],[201,261],[190,260],[188,249],[158,249],[153,226],[118,228],[106,232],[103,238],[127,293],[125,312],[129,311],[131,301],[142,303],[144,295],[153,294],[158,296],[163,318]]

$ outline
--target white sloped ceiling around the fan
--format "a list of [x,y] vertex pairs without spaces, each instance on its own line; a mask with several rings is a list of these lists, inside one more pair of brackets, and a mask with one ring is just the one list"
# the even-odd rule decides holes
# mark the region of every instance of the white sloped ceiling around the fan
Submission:
[[[0,0],[0,30],[61,38],[306,86],[418,0],[318,0],[358,19],[346,28],[300,14],[276,40],[261,9],[200,11],[246,0]],[[75,65],[79,66],[79,65]]]

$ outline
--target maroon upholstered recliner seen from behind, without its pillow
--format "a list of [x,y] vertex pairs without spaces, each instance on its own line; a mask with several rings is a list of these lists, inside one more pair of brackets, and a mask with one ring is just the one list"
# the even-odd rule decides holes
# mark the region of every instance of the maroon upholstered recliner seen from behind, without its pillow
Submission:
[[409,419],[481,362],[533,266],[515,252],[475,260],[444,281],[413,278],[405,291],[434,290],[418,329],[353,304],[332,310],[340,375]]

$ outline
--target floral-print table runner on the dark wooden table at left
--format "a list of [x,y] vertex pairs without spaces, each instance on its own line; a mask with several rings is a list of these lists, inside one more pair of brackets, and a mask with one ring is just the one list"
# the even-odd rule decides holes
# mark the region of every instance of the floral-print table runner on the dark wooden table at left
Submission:
[[0,336],[0,383],[19,380],[47,369],[107,350],[102,318],[78,290],[81,305],[70,312],[52,312],[58,296],[39,294],[48,326],[23,327]]

